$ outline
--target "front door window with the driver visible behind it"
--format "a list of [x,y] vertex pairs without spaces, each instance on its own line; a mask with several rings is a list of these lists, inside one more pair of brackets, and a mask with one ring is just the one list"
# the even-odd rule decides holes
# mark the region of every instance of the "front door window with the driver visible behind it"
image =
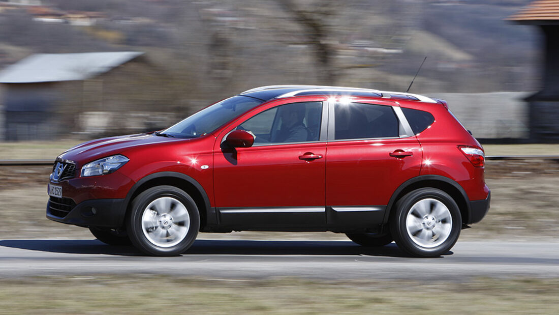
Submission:
[[254,144],[318,141],[322,102],[303,102],[273,107],[260,112],[237,129],[252,132]]

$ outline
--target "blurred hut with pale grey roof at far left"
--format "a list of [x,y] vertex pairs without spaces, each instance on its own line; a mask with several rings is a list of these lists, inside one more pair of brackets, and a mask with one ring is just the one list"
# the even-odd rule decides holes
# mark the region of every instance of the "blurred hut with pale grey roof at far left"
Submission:
[[140,51],[31,55],[0,72],[0,140],[56,139],[83,112],[139,111],[142,91],[164,79]]

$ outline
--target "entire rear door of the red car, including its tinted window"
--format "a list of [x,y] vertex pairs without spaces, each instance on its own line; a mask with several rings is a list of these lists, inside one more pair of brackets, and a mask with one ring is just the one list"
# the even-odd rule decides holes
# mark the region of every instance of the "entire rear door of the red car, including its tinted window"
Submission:
[[328,223],[372,227],[403,182],[419,176],[421,147],[396,102],[330,104]]

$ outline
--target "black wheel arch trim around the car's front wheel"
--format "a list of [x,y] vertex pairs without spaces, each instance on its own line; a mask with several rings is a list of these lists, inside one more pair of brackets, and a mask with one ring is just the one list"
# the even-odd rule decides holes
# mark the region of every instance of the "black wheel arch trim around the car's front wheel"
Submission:
[[212,217],[213,208],[210,205],[210,199],[208,198],[206,191],[194,178],[178,172],[158,172],[141,178],[141,180],[132,186],[126,195],[124,202],[126,211],[125,216],[122,218],[123,224],[125,218],[130,213],[130,204],[132,200],[134,200],[134,198],[136,198],[136,196],[138,196],[141,192],[150,189],[151,187],[160,185],[177,187],[184,190],[184,192],[192,197],[198,207],[198,212],[200,213],[200,228],[205,227],[208,221],[212,222],[212,218],[215,218],[215,214]]

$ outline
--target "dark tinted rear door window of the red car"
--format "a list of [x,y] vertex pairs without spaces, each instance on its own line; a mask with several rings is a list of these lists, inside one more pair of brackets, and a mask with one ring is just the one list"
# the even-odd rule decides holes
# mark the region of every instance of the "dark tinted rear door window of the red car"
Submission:
[[398,120],[392,106],[334,105],[336,140],[398,137]]

